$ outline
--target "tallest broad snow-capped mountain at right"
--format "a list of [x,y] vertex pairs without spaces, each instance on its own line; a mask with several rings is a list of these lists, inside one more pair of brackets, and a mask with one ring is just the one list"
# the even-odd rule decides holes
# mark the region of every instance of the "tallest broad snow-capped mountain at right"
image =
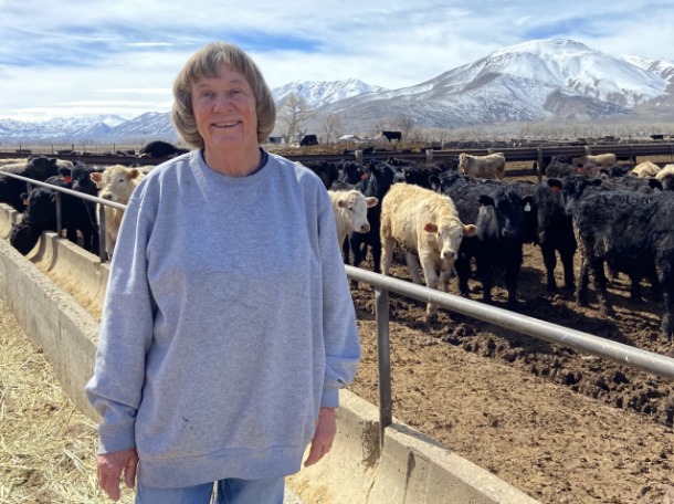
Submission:
[[402,90],[324,106],[348,108],[355,122],[404,114],[417,125],[467,126],[494,122],[588,119],[632,115],[668,94],[661,73],[570,40],[504,48]]

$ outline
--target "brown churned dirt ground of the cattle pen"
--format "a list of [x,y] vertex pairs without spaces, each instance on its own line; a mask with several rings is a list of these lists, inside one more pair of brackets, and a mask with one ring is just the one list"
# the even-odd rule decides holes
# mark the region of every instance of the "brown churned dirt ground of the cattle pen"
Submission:
[[[407,266],[392,273],[410,280]],[[505,307],[501,280],[494,304]],[[471,288],[481,298],[480,284]],[[626,279],[612,282],[610,295],[614,319],[592,298],[579,308],[570,292],[549,294],[540,251],[525,245],[524,315],[670,350],[659,342],[659,304],[632,303]],[[354,300],[364,359],[350,389],[377,405],[372,287],[359,285]],[[674,503],[668,380],[446,311],[429,325],[422,303],[396,294],[390,319],[396,418],[543,503]]]

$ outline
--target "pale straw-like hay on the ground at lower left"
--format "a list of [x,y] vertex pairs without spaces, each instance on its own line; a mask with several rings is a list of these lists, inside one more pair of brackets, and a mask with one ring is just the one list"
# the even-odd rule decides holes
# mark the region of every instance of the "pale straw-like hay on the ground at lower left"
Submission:
[[[96,447],[94,422],[0,301],[0,502],[112,502],[96,485]],[[124,489],[119,502],[133,500]]]

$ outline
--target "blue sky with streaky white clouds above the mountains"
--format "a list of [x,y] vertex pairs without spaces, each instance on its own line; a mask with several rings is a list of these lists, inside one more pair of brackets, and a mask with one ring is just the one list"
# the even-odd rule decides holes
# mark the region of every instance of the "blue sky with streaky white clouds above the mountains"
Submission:
[[411,86],[535,39],[674,62],[674,2],[0,0],[0,117],[168,112],[187,59],[234,42],[272,87]]

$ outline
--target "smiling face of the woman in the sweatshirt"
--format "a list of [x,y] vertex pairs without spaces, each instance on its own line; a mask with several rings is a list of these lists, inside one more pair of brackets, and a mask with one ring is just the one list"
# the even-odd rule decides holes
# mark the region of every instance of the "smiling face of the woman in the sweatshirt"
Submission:
[[191,97],[207,150],[257,149],[255,94],[242,74],[222,65],[217,77],[194,84]]

